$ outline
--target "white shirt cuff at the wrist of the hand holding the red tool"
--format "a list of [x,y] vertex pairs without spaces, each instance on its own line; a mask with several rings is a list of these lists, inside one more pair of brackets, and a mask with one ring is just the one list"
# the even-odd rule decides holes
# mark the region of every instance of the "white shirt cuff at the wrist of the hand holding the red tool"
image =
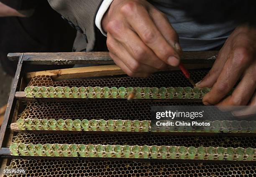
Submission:
[[103,0],[95,18],[95,25],[97,26],[97,28],[99,28],[100,32],[105,36],[107,36],[107,33],[105,33],[105,31],[103,31],[103,29],[101,28],[101,20],[106,11],[108,10],[109,6],[111,5],[112,1],[113,0]]

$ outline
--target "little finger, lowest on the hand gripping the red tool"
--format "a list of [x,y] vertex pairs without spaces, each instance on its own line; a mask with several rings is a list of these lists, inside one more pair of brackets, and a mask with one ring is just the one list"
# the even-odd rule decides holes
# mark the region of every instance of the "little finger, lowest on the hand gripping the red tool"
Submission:
[[[145,78],[151,75],[151,73],[133,73],[124,63],[123,61],[118,58],[115,54],[113,53],[109,53],[110,57],[113,59],[113,61],[115,62],[115,64],[117,66],[119,66],[125,73],[128,74],[128,76],[130,77],[141,77],[141,78]],[[131,74],[130,74],[131,73]]]

